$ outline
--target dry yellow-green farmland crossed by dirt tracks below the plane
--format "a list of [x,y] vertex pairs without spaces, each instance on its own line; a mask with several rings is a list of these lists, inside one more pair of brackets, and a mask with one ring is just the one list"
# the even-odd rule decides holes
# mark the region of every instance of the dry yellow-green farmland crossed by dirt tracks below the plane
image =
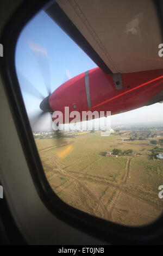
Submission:
[[[65,138],[60,146],[56,138],[35,142],[47,180],[64,202],[112,222],[143,225],[154,221],[163,209],[163,199],[158,197],[163,160],[151,159],[156,145],[148,137],[121,140],[134,133],[132,129],[102,137],[100,132],[84,132]],[[145,136],[143,131],[136,133]],[[115,148],[132,149],[136,155],[105,157]]]

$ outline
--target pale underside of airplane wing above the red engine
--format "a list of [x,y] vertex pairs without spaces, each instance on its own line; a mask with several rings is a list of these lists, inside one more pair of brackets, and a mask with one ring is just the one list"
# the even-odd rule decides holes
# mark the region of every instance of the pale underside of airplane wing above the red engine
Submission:
[[106,74],[162,69],[152,0],[58,0],[46,13]]

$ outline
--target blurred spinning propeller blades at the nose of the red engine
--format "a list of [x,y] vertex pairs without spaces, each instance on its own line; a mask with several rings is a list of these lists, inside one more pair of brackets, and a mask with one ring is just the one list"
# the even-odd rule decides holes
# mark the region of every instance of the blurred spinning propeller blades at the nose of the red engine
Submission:
[[[43,117],[46,117],[46,115],[47,116],[51,115],[51,120],[52,120],[53,109],[51,109],[51,106],[49,105],[49,96],[51,95],[52,92],[51,92],[51,82],[50,82],[49,60],[48,60],[48,54],[46,49],[41,45],[36,44],[32,41],[29,41],[29,47],[32,50],[34,57],[36,59],[36,62],[39,66],[39,70],[42,74],[42,78],[48,93],[48,96],[43,96],[42,93],[40,93],[40,91],[37,90],[36,87],[33,86],[33,84],[28,81],[28,79],[22,74],[20,70],[17,71],[18,78],[21,81],[20,84],[21,84],[22,92],[26,92],[32,96],[35,96],[37,99],[41,100],[40,106],[39,106],[40,110],[37,111],[32,117],[29,117],[30,125],[32,126],[32,130],[34,130],[34,127],[36,126],[40,127],[41,119],[43,120]],[[64,143],[64,135],[59,129],[57,131],[56,130],[57,129],[55,129],[55,137],[57,138],[57,144],[61,145]]]

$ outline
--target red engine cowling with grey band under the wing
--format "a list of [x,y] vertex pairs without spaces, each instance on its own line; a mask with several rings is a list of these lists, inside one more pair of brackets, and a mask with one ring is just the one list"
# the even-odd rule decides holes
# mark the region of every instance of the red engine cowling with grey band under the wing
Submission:
[[[130,111],[163,100],[163,69],[110,74],[95,68],[68,80],[49,96],[53,111]],[[70,118],[71,121],[73,118]],[[63,119],[63,123],[68,123]]]

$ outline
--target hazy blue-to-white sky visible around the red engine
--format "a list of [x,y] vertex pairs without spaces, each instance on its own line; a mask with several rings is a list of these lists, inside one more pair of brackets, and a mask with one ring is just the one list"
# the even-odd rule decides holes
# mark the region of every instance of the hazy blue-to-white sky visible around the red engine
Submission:
[[[66,80],[97,66],[43,11],[23,29],[15,57],[18,80],[30,116],[40,112],[41,102],[41,99],[26,92],[30,84],[47,96],[45,83],[51,85],[53,92]],[[156,103],[114,115],[111,124],[162,121],[162,110],[163,104]],[[44,118],[44,124],[41,121],[44,129],[49,127],[49,119],[49,116]]]

